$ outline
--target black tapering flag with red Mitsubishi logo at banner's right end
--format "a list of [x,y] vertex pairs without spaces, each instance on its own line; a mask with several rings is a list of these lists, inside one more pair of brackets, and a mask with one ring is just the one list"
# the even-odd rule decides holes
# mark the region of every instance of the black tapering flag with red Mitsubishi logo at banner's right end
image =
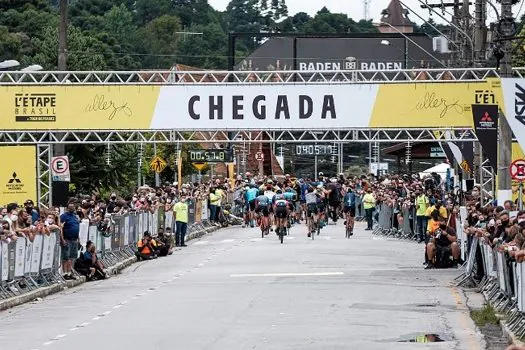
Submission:
[[498,169],[498,105],[472,105],[474,130],[494,173]]

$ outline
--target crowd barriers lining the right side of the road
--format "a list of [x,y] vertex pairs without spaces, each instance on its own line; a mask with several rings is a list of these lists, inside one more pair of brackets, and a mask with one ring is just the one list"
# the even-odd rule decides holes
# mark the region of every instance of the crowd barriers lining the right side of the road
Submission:
[[[397,238],[413,238],[409,227],[410,209],[400,211],[403,225],[396,227],[396,206],[382,203],[376,208],[376,227],[374,234]],[[525,336],[525,263],[518,263],[510,257],[508,251],[500,247],[491,247],[484,239],[468,236],[463,230],[466,220],[466,208],[455,218],[457,243],[461,248],[461,275],[456,278],[457,285],[467,281],[478,284],[479,289],[496,311],[506,315],[508,328],[518,337]],[[511,215],[512,216],[512,215]],[[415,218],[415,216],[412,216]],[[412,220],[415,224],[415,222]],[[412,234],[408,234],[412,232]],[[476,282],[479,281],[479,282]]]

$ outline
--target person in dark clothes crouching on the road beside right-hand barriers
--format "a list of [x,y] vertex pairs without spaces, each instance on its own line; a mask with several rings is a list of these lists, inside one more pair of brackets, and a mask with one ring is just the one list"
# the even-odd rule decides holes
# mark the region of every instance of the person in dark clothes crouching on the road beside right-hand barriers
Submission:
[[[426,246],[428,265],[426,269],[457,267],[460,263],[460,250],[456,230],[449,227],[447,219],[439,217],[439,226],[430,231],[430,241]],[[452,257],[452,262],[450,260]]]

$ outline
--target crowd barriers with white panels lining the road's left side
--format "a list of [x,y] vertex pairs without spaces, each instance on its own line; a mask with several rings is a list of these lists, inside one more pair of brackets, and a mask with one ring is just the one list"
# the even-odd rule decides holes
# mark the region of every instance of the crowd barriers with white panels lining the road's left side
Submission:
[[[190,201],[188,206],[188,234],[206,231],[211,226],[207,200]],[[82,220],[79,248],[85,247],[88,240],[92,241],[99,260],[105,267],[111,267],[135,255],[137,242],[144,231],[155,237],[161,226],[170,227],[175,234],[173,212],[165,212],[164,207],[154,212],[108,215],[104,224]],[[60,260],[58,231],[50,235],[38,234],[32,242],[25,237],[14,242],[0,242],[0,300],[63,283]]]

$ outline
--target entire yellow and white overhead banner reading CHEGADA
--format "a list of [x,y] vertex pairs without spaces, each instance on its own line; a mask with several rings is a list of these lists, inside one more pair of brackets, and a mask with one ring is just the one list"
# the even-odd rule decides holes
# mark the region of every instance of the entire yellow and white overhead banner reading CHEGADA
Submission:
[[312,130],[473,126],[499,80],[393,84],[37,86],[0,90],[3,130]]

